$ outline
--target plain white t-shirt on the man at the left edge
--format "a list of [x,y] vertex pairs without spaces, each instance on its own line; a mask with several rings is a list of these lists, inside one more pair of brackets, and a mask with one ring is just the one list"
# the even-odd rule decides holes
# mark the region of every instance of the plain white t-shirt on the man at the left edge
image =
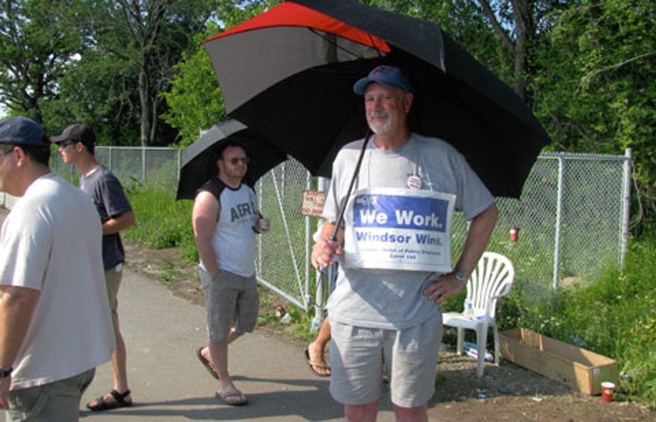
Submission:
[[0,284],[39,290],[11,389],[66,379],[108,362],[115,347],[91,199],[56,174],[35,180],[5,218]]

